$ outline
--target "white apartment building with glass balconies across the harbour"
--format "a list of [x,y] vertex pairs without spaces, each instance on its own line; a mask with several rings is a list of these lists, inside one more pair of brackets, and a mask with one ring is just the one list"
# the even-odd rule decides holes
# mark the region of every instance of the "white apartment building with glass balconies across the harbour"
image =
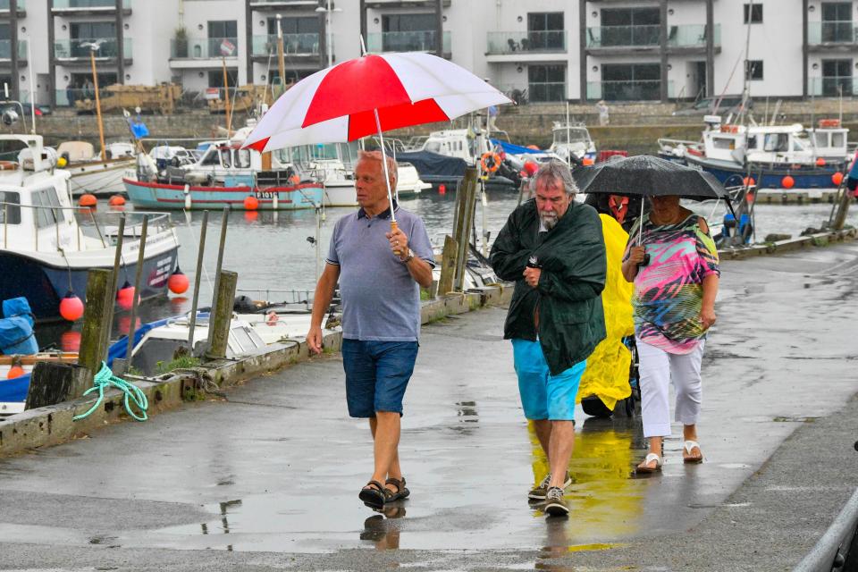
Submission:
[[278,22],[286,82],[366,49],[534,103],[858,91],[858,0],[0,0],[0,82],[71,105],[95,55],[100,86],[279,83]]

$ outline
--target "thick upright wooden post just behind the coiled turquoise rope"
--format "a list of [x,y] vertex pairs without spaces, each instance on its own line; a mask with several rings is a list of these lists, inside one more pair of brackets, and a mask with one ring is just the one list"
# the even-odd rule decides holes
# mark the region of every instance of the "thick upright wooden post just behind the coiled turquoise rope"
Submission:
[[114,273],[112,270],[93,268],[89,271],[87,300],[83,311],[83,331],[80,332],[78,363],[95,375],[107,351],[104,328],[110,328],[105,320],[109,307],[114,304]]

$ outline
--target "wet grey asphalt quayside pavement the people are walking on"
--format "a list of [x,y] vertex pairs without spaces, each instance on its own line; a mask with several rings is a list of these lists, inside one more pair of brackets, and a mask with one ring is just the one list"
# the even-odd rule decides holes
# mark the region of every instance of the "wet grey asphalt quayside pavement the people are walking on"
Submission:
[[703,365],[706,462],[578,411],[568,519],[526,492],[504,310],[425,326],[400,457],[412,498],[357,500],[366,422],[324,356],[146,424],[0,460],[0,569],[788,570],[858,484],[858,244],[726,262]]

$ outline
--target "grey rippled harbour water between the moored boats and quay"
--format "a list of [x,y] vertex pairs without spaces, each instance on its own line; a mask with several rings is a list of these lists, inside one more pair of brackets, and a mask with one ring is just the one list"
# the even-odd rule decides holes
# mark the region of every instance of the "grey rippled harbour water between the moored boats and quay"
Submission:
[[[448,192],[439,194],[429,190],[412,198],[403,198],[400,205],[409,211],[419,214],[425,221],[426,228],[433,242],[439,244],[443,235],[452,229],[453,212],[456,194]],[[475,222],[477,233],[483,228],[492,232],[492,237],[506,222],[509,213],[517,206],[518,196],[514,193],[493,193],[487,197],[486,206],[477,204]],[[694,210],[707,216],[715,227],[724,212],[722,205],[712,203],[689,203]],[[100,202],[99,209],[107,209],[105,202]],[[126,206],[132,210],[132,206]],[[352,208],[328,208],[319,229],[320,254],[322,265],[331,239],[333,225],[337,219],[353,212]],[[714,212],[714,215],[712,213]],[[807,227],[819,228],[827,221],[831,206],[828,204],[812,205],[759,205],[756,207],[756,237],[762,240],[771,232],[787,233],[797,236]],[[485,223],[483,222],[485,214]],[[201,211],[192,213],[172,213],[175,230],[179,236],[179,264],[182,272],[188,274],[191,287],[195,279],[195,267],[198,256],[198,241],[203,219]],[[308,290],[315,288],[316,250],[315,245],[307,240],[315,240],[316,214],[313,210],[293,212],[233,212],[229,215],[226,247],[223,252],[223,268],[239,273],[240,294],[247,294],[253,299],[280,301],[286,299],[286,290]],[[207,307],[211,303],[214,285],[214,269],[217,261],[217,245],[220,233],[221,213],[211,212],[208,217],[206,234],[206,255],[204,257],[204,273],[200,281],[199,307]],[[847,223],[858,224],[858,211],[852,209]],[[130,281],[133,276],[128,277]],[[121,277],[121,282],[124,280]],[[140,323],[179,315],[188,312],[191,307],[190,290],[181,296],[170,299],[147,301],[139,308]],[[114,319],[114,338],[128,332],[130,326],[129,312],[123,312],[118,307]],[[39,346],[44,348],[51,344],[57,347],[73,349],[79,337],[73,332],[80,330],[80,324],[41,329],[37,332]]]

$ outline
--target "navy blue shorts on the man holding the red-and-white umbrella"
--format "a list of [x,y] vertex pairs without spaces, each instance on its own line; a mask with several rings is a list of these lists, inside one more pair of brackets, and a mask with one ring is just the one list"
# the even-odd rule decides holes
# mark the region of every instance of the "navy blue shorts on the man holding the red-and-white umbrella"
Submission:
[[374,417],[376,411],[402,415],[402,397],[414,372],[416,341],[343,339],[349,416]]

